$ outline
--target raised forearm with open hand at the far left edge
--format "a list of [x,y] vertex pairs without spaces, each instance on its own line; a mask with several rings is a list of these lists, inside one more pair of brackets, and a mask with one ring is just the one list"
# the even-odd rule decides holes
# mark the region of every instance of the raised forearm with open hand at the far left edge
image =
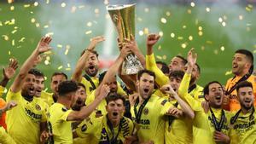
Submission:
[[6,85],[9,82],[9,79],[11,79],[15,76],[15,71],[17,68],[18,68],[18,60],[10,59],[9,66],[3,68],[3,79],[0,82],[1,86],[6,87]]

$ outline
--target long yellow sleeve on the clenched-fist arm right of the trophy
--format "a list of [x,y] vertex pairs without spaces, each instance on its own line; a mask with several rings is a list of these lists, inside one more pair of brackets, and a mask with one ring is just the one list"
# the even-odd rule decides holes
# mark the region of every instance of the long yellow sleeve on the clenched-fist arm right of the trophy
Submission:
[[154,54],[146,55],[146,68],[149,71],[154,72],[155,82],[160,86],[163,86],[169,83],[169,78],[163,72],[161,72],[161,70],[157,67],[154,60]]

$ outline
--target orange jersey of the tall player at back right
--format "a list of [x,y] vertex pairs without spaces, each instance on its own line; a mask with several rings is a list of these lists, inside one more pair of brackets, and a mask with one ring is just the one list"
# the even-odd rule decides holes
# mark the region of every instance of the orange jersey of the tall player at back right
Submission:
[[[229,91],[239,81],[240,78],[241,77],[230,78],[225,87],[226,91]],[[256,107],[256,77],[254,75],[251,75],[249,78],[247,78],[247,82],[253,84],[254,107]],[[226,108],[231,112],[236,112],[241,108],[239,101],[237,101],[236,89],[231,92],[230,104]]]

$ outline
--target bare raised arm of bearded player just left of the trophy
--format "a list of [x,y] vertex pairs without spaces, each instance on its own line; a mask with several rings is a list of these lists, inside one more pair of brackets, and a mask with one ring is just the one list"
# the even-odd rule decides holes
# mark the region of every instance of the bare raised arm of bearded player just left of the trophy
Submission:
[[96,48],[96,45],[98,43],[101,43],[104,40],[105,40],[105,38],[103,36],[93,37],[91,39],[88,48],[85,49],[84,54],[79,58],[79,61],[75,67],[75,70],[73,72],[73,77],[72,77],[72,79],[74,81],[81,82],[84,66],[85,66],[86,61],[89,58],[90,52]]

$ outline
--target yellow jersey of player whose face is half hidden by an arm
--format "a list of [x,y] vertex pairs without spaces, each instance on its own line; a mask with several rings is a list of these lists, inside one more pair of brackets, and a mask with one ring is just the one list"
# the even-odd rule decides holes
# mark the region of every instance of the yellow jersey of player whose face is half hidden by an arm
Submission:
[[[169,97],[165,97],[167,101]],[[170,101],[173,106],[182,109],[176,100]],[[192,119],[183,115],[181,118],[174,118],[171,124],[172,116],[166,116],[166,131],[165,139],[166,144],[192,144],[193,143],[193,130]],[[169,125],[171,124],[171,125]]]

